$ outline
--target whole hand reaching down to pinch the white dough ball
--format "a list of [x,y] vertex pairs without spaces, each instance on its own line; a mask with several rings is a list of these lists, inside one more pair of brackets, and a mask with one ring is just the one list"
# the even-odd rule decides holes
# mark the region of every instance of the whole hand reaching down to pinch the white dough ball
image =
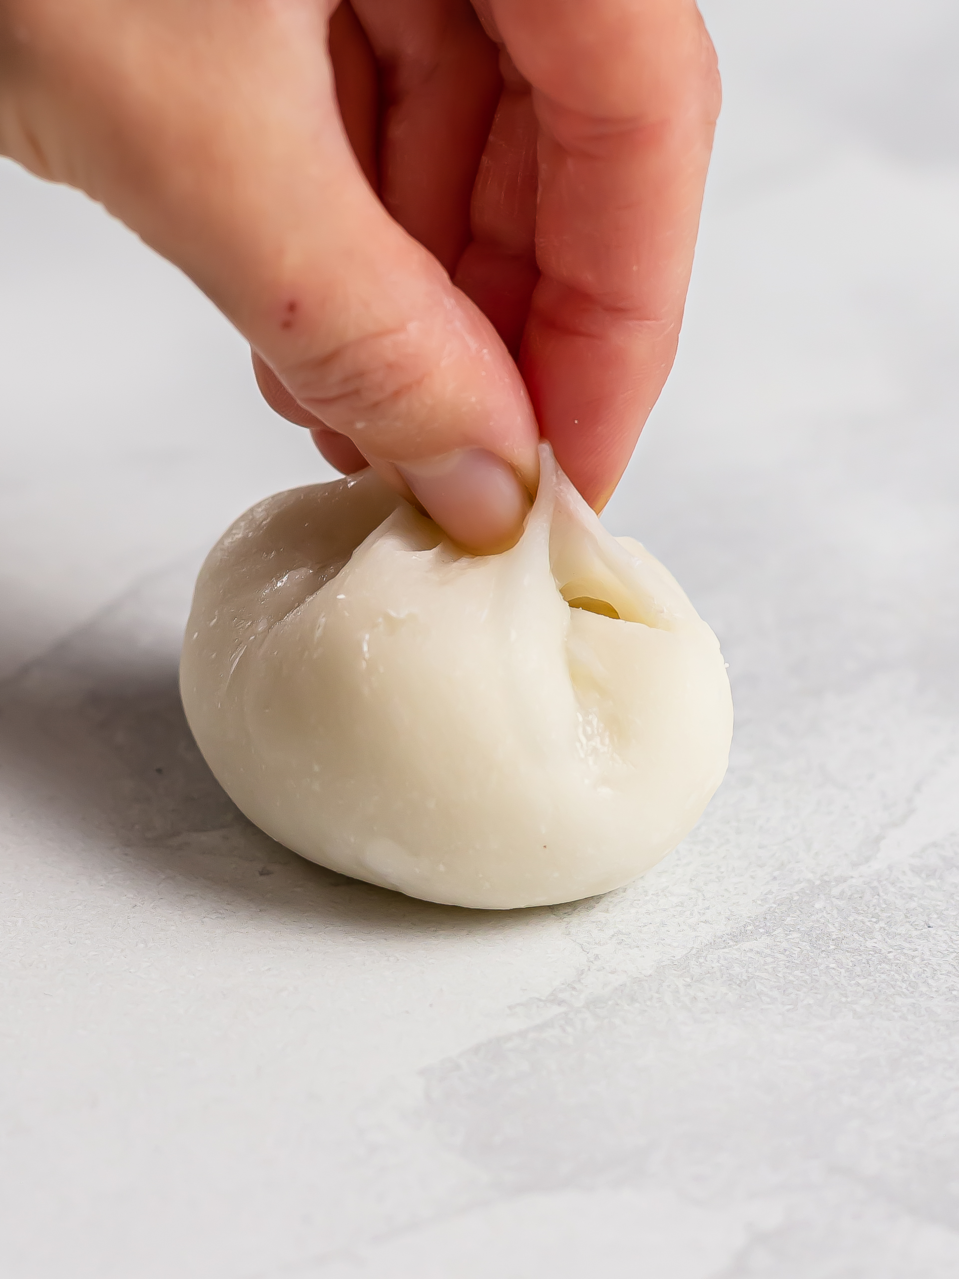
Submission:
[[518,536],[541,436],[612,492],[719,105],[693,0],[0,0],[0,152],[179,266],[279,413],[476,551]]

